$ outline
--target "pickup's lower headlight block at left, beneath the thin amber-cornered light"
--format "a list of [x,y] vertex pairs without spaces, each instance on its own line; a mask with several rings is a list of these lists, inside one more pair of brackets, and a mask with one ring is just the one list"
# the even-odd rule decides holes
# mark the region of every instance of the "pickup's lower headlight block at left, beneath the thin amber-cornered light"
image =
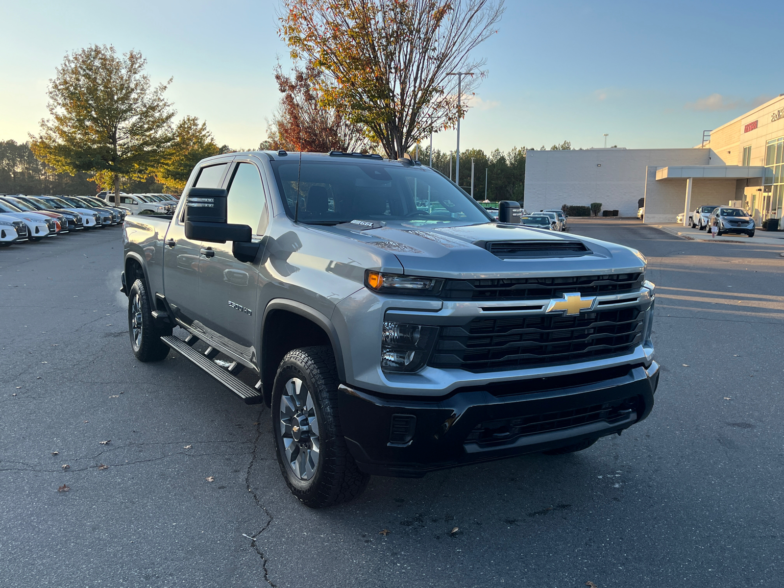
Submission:
[[381,335],[383,372],[418,372],[430,357],[438,327],[384,321]]

